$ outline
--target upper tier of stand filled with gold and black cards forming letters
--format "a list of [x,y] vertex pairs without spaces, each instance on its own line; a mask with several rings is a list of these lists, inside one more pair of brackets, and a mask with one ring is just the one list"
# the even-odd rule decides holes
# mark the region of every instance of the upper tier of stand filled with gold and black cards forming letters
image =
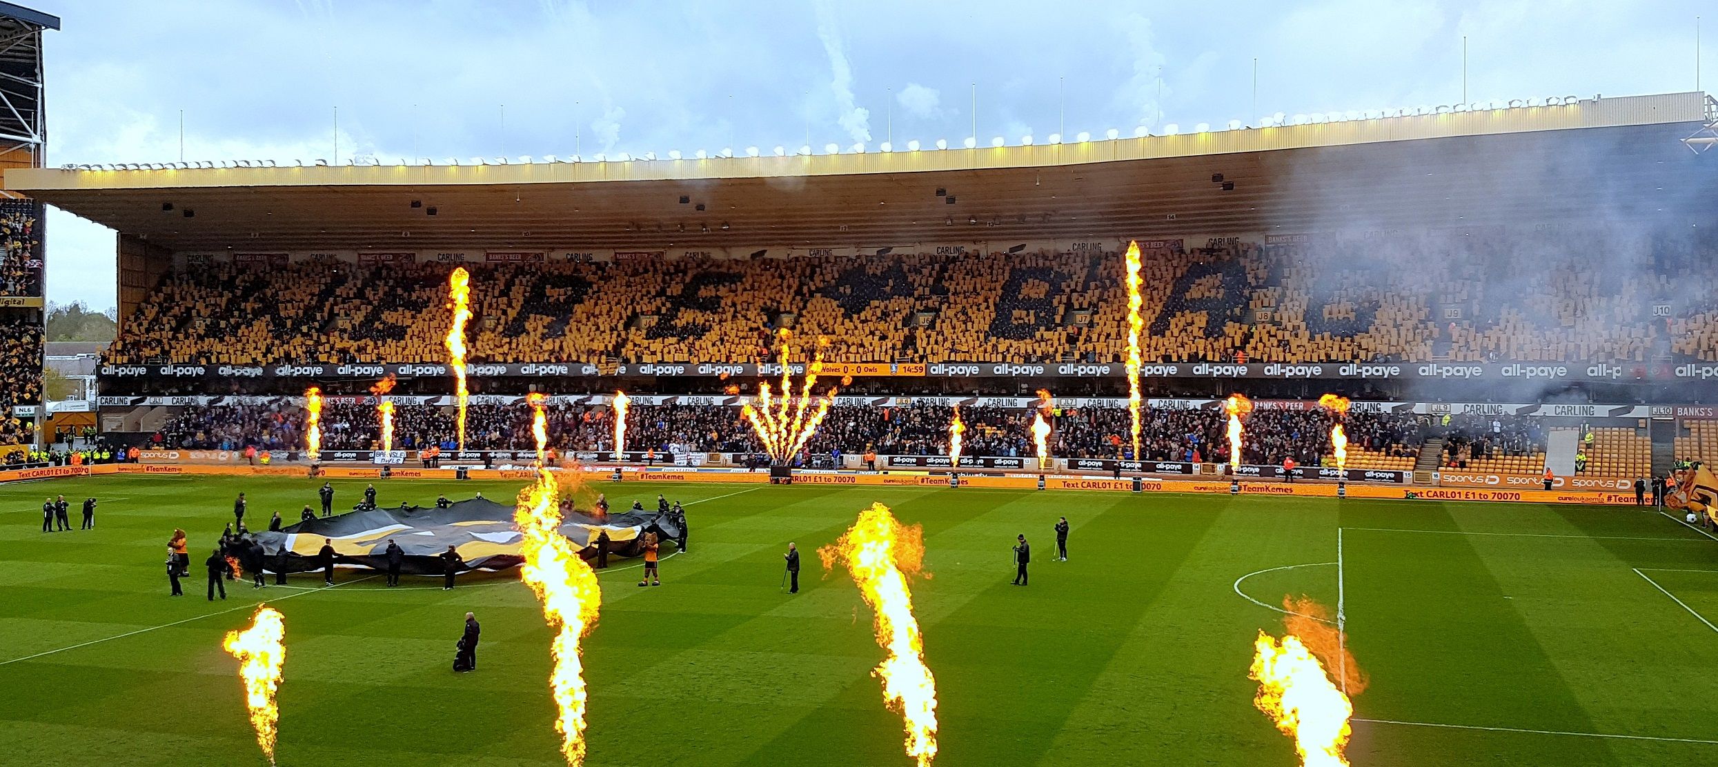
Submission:
[[[1376,240],[1144,254],[1144,359],[1158,362],[1718,360],[1711,245],[1665,271],[1596,269],[1575,240]],[[1704,261],[1703,261],[1704,259]],[[1666,273],[1685,275],[1670,280]],[[472,362],[761,362],[771,329],[832,362],[1120,362],[1120,256],[615,261],[472,266]],[[108,364],[440,362],[442,264],[215,261],[168,271]],[[1663,304],[1670,316],[1649,316]],[[1445,311],[1460,319],[1445,319]],[[1435,317],[1436,314],[1436,317]]]

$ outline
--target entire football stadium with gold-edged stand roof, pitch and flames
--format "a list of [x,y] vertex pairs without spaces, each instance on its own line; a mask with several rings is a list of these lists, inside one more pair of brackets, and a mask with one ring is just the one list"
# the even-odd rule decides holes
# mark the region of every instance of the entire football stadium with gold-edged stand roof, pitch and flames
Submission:
[[1718,764],[1703,91],[50,165],[58,29],[3,764]]

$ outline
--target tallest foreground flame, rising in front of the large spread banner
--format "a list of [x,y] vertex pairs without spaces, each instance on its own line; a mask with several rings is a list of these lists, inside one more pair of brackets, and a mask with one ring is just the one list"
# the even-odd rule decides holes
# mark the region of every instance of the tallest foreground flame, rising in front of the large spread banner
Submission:
[[584,662],[579,657],[579,638],[596,626],[596,613],[603,604],[603,590],[596,571],[579,558],[579,549],[560,534],[560,503],[555,475],[545,465],[548,444],[548,417],[543,414],[545,396],[531,393],[531,434],[536,438],[538,477],[519,491],[514,508],[514,527],[524,535],[521,554],[524,565],[519,577],[538,599],[543,616],[557,630],[550,654],[555,671],[548,679],[560,716],[555,729],[560,733],[560,752],[567,764],[584,764]]

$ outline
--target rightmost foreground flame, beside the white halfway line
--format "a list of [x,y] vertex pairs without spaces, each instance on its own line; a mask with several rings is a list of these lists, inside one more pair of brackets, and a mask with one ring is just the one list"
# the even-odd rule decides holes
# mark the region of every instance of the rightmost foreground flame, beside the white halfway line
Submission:
[[1347,767],[1343,748],[1354,704],[1330,681],[1318,657],[1292,633],[1276,642],[1259,631],[1252,652],[1247,676],[1259,683],[1252,705],[1294,738],[1304,767]]

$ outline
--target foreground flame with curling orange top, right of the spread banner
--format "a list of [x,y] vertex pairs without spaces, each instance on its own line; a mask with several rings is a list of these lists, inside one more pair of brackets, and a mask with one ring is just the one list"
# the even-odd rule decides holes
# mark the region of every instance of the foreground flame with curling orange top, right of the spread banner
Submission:
[[825,570],[847,565],[859,595],[876,613],[876,643],[886,657],[871,676],[883,679],[883,704],[905,722],[907,755],[919,767],[929,765],[936,757],[936,679],[924,666],[924,635],[907,587],[924,561],[924,530],[904,527],[888,506],[873,503],[840,539],[818,549],[818,558]]

